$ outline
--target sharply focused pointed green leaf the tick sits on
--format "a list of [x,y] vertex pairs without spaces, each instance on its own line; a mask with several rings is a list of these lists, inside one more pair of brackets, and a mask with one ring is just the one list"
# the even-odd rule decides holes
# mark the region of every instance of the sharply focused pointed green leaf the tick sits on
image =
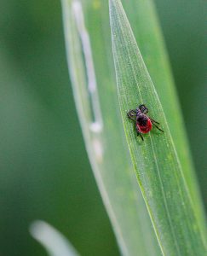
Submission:
[[[198,224],[169,125],[147,72],[129,21],[119,0],[110,0],[112,49],[118,98],[129,152],[164,255],[204,255]],[[161,122],[164,134],[152,130],[145,141],[136,137],[127,111],[145,103],[149,115]],[[179,113],[178,113],[179,114]]]

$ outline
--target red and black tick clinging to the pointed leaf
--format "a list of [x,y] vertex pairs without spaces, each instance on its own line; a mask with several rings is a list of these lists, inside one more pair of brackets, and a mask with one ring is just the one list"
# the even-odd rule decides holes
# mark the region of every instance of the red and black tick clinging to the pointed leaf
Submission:
[[137,136],[140,136],[142,141],[144,140],[142,134],[151,131],[152,125],[154,125],[159,131],[164,132],[158,127],[159,123],[148,117],[147,113],[148,108],[144,104],[141,104],[138,108],[129,110],[127,113],[129,119],[135,121]]

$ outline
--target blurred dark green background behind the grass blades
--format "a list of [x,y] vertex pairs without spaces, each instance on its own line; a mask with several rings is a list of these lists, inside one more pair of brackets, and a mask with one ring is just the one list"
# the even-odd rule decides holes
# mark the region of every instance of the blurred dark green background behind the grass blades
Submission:
[[[155,3],[207,209],[207,5]],[[59,1],[1,1],[0,83],[0,255],[46,255],[28,232],[39,218],[82,255],[118,255],[78,124]]]

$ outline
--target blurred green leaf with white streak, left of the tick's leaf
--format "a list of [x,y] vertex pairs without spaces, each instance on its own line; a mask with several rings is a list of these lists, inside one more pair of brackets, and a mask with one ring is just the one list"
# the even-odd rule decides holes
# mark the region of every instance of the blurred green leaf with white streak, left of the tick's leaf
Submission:
[[67,61],[89,160],[124,255],[161,255],[118,111],[108,3],[62,0]]

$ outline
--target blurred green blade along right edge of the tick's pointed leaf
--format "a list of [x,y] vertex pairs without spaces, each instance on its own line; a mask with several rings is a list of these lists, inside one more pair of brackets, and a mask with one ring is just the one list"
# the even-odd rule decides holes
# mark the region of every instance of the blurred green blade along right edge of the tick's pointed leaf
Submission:
[[122,1],[128,14],[130,26],[132,26],[135,39],[141,50],[141,55],[150,73],[153,84],[158,91],[158,96],[164,108],[172,137],[176,140],[175,148],[183,174],[186,178],[189,192],[193,199],[194,210],[198,215],[201,230],[206,234],[206,219],[204,208],[198,189],[198,182],[193,170],[192,155],[187,143],[186,132],[183,129],[184,122],[181,116],[180,103],[176,96],[175,84],[170,72],[168,55],[164,47],[164,40],[158,25],[153,1]]

